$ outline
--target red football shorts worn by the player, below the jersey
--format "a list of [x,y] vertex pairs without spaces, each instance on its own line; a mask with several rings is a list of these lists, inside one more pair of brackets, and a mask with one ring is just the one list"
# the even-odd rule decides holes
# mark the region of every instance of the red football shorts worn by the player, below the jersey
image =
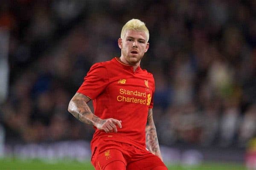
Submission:
[[97,147],[93,151],[92,164],[96,170],[104,168],[113,161],[122,161],[126,170],[151,170],[154,167],[167,167],[160,158],[149,151],[141,150],[131,144],[111,141],[108,147]]

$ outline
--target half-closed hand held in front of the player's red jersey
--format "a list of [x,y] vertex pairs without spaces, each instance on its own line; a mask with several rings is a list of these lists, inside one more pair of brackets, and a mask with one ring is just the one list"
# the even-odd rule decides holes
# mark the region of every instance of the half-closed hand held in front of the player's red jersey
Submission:
[[99,130],[104,130],[106,133],[110,133],[110,132],[117,132],[117,127],[122,128],[121,125],[122,121],[121,120],[117,120],[117,119],[102,119],[101,121],[99,121],[99,123],[96,125],[97,129]]

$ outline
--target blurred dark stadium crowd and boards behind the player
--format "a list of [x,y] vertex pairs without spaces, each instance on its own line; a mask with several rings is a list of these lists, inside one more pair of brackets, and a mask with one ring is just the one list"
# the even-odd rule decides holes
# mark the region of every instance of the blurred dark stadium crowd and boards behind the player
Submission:
[[256,169],[256,0],[0,2],[1,170],[29,169],[23,159],[90,161],[93,128],[68,102],[93,63],[120,56],[131,18],[150,31],[142,68],[156,81],[166,164]]

